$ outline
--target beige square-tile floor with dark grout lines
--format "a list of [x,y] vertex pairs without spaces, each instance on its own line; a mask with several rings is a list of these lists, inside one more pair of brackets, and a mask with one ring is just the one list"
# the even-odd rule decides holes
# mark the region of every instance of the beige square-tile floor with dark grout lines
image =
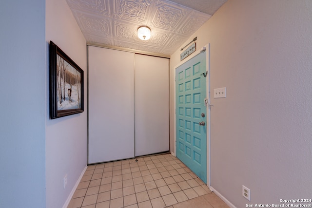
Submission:
[[68,208],[229,208],[171,154],[90,165]]

